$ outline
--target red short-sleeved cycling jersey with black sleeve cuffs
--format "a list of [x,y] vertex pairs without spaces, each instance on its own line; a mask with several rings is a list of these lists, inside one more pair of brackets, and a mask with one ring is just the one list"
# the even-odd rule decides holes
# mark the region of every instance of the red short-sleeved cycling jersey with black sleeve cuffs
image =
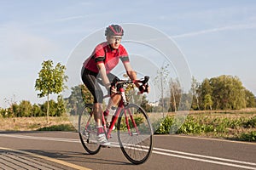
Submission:
[[107,73],[113,70],[118,65],[119,59],[124,62],[129,62],[128,54],[121,44],[118,49],[111,48],[107,42],[102,42],[96,46],[93,53],[84,61],[84,68],[98,73],[97,64],[104,63]]

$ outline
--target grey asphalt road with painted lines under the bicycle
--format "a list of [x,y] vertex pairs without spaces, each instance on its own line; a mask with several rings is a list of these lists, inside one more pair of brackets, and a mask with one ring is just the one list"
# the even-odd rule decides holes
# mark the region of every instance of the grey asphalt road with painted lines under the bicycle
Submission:
[[127,161],[118,147],[90,156],[78,133],[0,133],[0,169],[255,169],[256,143],[178,135],[154,136],[142,165]]

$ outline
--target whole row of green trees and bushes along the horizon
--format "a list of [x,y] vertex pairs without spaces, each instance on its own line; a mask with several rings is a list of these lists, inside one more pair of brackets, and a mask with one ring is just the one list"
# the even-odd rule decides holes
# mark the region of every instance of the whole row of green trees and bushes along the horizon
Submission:
[[[7,109],[0,108],[0,116],[62,116],[65,111],[77,115],[82,111],[84,103],[93,102],[89,90],[84,85],[71,88],[71,95],[66,99],[61,95],[58,96],[57,101],[49,99],[49,94],[60,94],[66,88],[65,82],[68,77],[65,75],[65,70],[65,66],[60,63],[54,66],[52,60],[44,61],[42,70],[38,72],[35,89],[39,91],[38,97],[46,96],[47,101],[42,105],[32,105],[27,100],[22,100],[20,104],[14,102]],[[158,72],[159,76],[155,77],[155,80],[158,80],[156,82],[161,82],[157,86],[161,90],[158,106],[149,105],[146,95],[133,96],[134,101],[140,103],[145,111],[180,111],[182,108],[193,111],[238,110],[256,106],[255,96],[243,87],[238,77],[223,75],[206,78],[202,82],[196,81],[193,77],[189,92],[184,92],[177,78],[166,80],[168,73],[163,67]],[[127,93],[131,90],[134,89],[128,88]]]

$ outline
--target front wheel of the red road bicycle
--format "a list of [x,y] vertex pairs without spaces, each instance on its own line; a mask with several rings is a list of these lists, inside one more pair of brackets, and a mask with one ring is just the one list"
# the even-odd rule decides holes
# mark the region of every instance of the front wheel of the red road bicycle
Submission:
[[[129,111],[131,111],[137,128],[133,125],[131,116],[127,116]],[[125,122],[125,114],[131,129],[130,133],[128,125]],[[125,109],[120,113],[117,128],[119,145],[125,157],[137,165],[148,161],[148,157],[151,155],[153,149],[154,131],[145,111],[139,105],[130,104],[125,106]]]

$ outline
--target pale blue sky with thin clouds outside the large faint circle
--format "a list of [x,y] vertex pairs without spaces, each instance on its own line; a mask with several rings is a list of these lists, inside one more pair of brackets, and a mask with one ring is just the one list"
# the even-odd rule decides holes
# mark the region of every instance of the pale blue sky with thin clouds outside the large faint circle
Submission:
[[152,26],[172,38],[198,82],[236,76],[256,94],[253,0],[1,0],[0,107],[44,102],[34,89],[41,63],[66,65],[84,37],[123,23]]

